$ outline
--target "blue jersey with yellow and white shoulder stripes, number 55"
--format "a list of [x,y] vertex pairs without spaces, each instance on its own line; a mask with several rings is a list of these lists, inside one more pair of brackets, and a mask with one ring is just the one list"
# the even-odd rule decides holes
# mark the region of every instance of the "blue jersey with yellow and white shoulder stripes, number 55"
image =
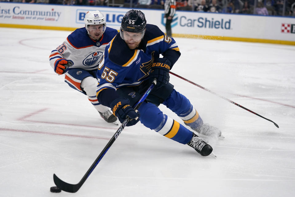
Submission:
[[[159,27],[146,25],[146,31],[140,45],[129,49],[118,33],[105,48],[104,58],[98,67],[98,86],[96,95],[100,103],[109,107],[116,96],[116,89],[123,86],[137,86],[149,78],[151,65],[157,62],[159,55],[170,60],[171,66],[180,56],[179,48],[173,38],[165,35]],[[112,96],[110,91],[113,90]],[[108,94],[101,94],[108,90]]]

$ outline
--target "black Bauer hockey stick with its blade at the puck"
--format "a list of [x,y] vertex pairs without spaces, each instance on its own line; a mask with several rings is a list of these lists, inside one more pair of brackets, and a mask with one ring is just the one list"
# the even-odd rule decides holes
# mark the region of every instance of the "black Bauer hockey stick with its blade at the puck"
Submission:
[[[148,94],[151,92],[151,90],[156,85],[157,80],[154,79],[151,86],[149,86],[148,90],[144,93],[144,95],[140,98],[140,100],[135,104],[134,109],[138,109],[141,104],[144,102],[144,100],[147,98]],[[57,175],[53,174],[53,180],[55,185],[60,188],[63,191],[75,193],[77,192],[80,187],[83,185],[83,183],[86,181],[86,179],[89,177],[89,175],[92,173],[94,168],[97,166],[97,164],[100,162],[100,160],[103,158],[104,154],[108,151],[108,149],[112,146],[112,144],[115,142],[115,140],[118,138],[122,130],[126,127],[127,123],[130,121],[130,119],[125,119],[124,122],[121,124],[119,129],[116,131],[116,133],[113,135],[113,137],[110,139],[108,144],[104,147],[104,149],[101,151],[100,155],[95,159],[95,161],[92,163],[91,167],[88,169],[86,174],[83,176],[83,178],[80,180],[77,184],[70,184],[62,181],[60,178],[57,177]]]

